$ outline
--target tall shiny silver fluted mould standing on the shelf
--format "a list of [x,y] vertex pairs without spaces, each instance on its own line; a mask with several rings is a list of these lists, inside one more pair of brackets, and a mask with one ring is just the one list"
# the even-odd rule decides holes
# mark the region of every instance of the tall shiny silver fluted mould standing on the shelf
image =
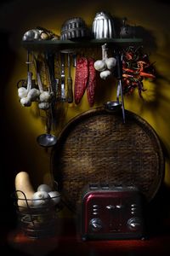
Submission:
[[104,11],[97,13],[93,21],[92,34],[96,39],[116,38],[112,16]]

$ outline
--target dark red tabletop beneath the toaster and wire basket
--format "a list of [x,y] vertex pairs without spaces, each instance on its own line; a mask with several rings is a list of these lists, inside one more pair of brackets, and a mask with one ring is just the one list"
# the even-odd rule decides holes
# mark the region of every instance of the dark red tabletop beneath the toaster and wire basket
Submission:
[[54,236],[32,239],[15,228],[6,231],[1,243],[5,253],[18,256],[170,255],[170,222],[159,231],[153,227],[148,235],[145,240],[82,241],[76,218],[61,218]]

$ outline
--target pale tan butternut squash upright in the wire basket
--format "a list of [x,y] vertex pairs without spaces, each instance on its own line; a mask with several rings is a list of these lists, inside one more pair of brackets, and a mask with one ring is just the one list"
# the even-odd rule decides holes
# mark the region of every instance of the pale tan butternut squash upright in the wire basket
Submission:
[[[27,203],[29,206],[31,206],[31,198],[35,191],[31,185],[30,177],[27,172],[19,172],[16,175],[15,190],[18,197],[18,206],[20,207],[20,210],[26,209]],[[22,191],[24,194],[18,190]]]

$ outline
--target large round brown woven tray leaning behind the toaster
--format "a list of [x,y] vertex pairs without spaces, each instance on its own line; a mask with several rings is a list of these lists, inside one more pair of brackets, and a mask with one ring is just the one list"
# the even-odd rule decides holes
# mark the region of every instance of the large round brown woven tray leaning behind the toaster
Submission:
[[73,211],[88,183],[135,185],[151,201],[161,185],[164,157],[156,131],[137,114],[95,108],[65,126],[52,151],[54,179]]

